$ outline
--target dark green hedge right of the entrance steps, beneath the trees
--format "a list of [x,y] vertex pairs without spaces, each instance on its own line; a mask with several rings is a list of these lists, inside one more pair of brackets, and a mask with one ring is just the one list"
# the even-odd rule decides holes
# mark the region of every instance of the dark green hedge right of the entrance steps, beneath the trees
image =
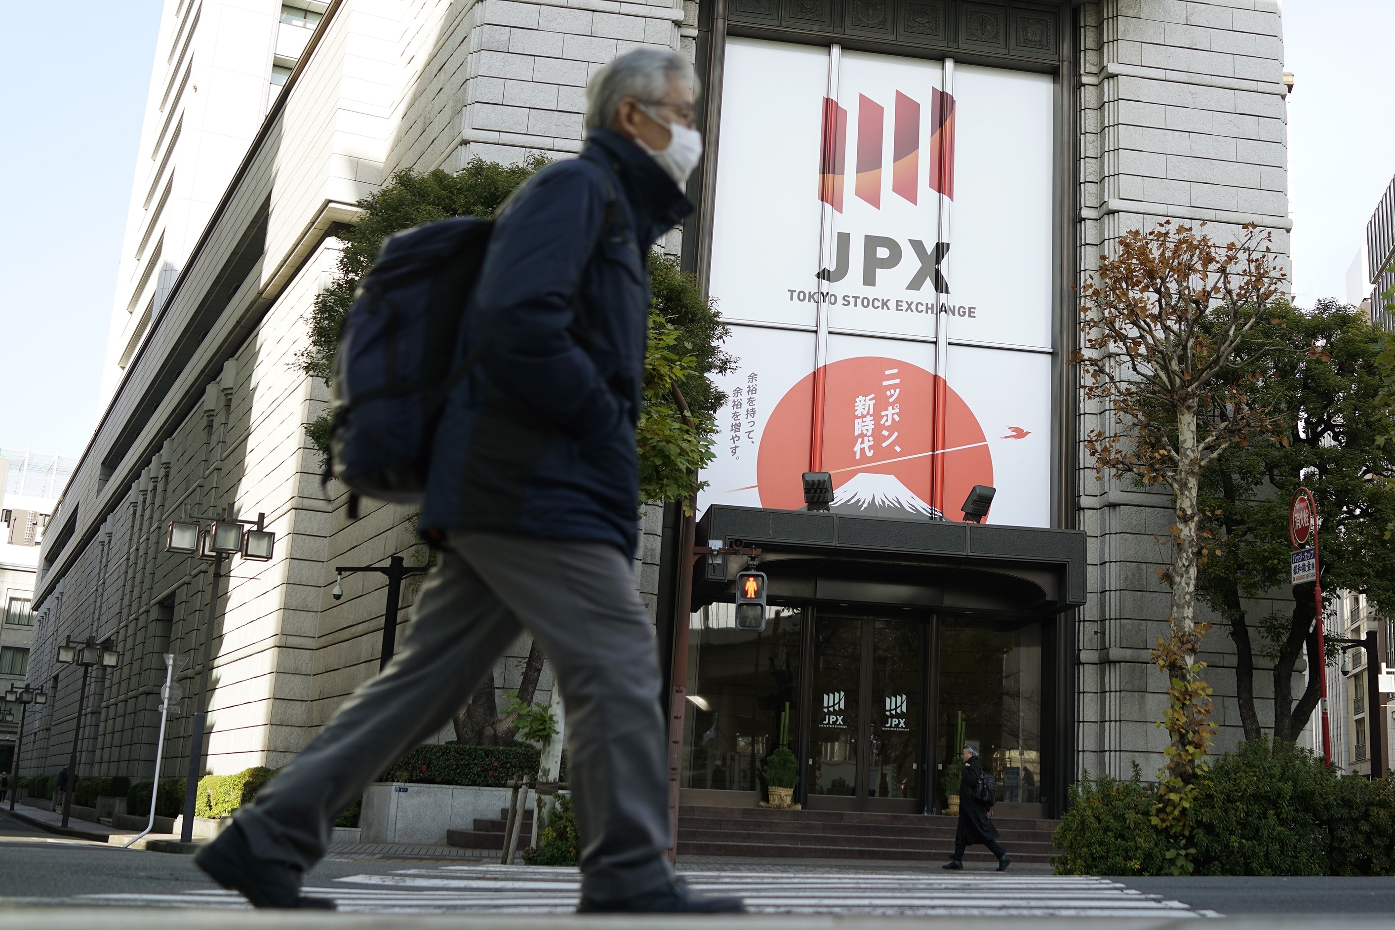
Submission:
[[[1137,765],[1127,782],[1087,772],[1052,838],[1056,873],[1163,874],[1155,802]],[[1395,775],[1342,777],[1293,743],[1251,740],[1218,759],[1197,779],[1191,821],[1194,874],[1395,874]]]

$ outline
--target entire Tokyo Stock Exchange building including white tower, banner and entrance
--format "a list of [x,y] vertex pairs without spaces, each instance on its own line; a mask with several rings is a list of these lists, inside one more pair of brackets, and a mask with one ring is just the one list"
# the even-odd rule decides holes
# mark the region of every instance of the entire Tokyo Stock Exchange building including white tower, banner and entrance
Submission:
[[[1085,459],[1103,421],[1067,364],[1074,294],[1165,219],[1254,223],[1288,254],[1274,0],[169,0],[109,400],[43,541],[31,680],[56,697],[24,771],[56,771],[81,725],[78,774],[145,777],[163,653],[187,660],[169,775],[201,708],[208,771],[280,765],[377,671],[382,581],[335,600],[335,566],[427,554],[406,508],[350,520],[304,434],[328,392],[294,361],[335,234],[396,170],[575,155],[587,79],[642,45],[698,67],[699,211],[663,248],[738,357],[698,538],[762,548],[773,598],[737,629],[741,561],[718,556],[679,602],[677,508],[642,510],[636,584],[686,665],[684,796],[756,803],[781,743],[798,799],[843,810],[937,810],[961,738],[1023,814],[1060,811],[1081,768],[1159,768],[1172,502]],[[805,471],[833,475],[830,513],[801,512]],[[975,484],[985,526],[961,520]],[[166,551],[172,521],[229,520],[275,533],[272,558],[215,574]],[[53,651],[86,636],[120,664],[77,721]],[[1202,657],[1228,749],[1229,639]]]

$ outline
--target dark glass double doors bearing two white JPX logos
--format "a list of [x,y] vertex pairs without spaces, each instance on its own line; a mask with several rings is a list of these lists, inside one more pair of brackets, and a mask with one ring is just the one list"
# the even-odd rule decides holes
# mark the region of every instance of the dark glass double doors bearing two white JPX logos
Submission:
[[919,810],[925,629],[870,616],[815,622],[810,807]]

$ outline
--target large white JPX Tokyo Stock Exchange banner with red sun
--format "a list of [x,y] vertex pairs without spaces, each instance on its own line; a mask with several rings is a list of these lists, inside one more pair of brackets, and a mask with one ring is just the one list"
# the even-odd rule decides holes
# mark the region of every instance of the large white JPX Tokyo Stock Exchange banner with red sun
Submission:
[[1052,78],[732,38],[713,502],[1050,521]]

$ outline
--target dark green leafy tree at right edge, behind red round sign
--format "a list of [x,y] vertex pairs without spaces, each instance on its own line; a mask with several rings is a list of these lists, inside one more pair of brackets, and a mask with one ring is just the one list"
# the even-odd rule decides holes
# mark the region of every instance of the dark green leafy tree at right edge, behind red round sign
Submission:
[[[1321,300],[1310,312],[1276,304],[1264,321],[1275,351],[1256,358],[1254,395],[1279,418],[1268,442],[1232,446],[1202,474],[1200,506],[1214,555],[1201,566],[1200,595],[1230,626],[1247,740],[1260,738],[1254,654],[1274,658],[1274,738],[1293,742],[1317,707],[1318,676],[1293,699],[1293,668],[1317,654],[1313,584],[1293,587],[1288,616],[1250,618],[1242,598],[1289,580],[1288,512],[1293,491],[1317,499],[1322,590],[1359,591],[1381,611],[1395,608],[1395,417],[1382,402],[1382,335],[1353,307]],[[1251,627],[1260,634],[1258,650]]]

